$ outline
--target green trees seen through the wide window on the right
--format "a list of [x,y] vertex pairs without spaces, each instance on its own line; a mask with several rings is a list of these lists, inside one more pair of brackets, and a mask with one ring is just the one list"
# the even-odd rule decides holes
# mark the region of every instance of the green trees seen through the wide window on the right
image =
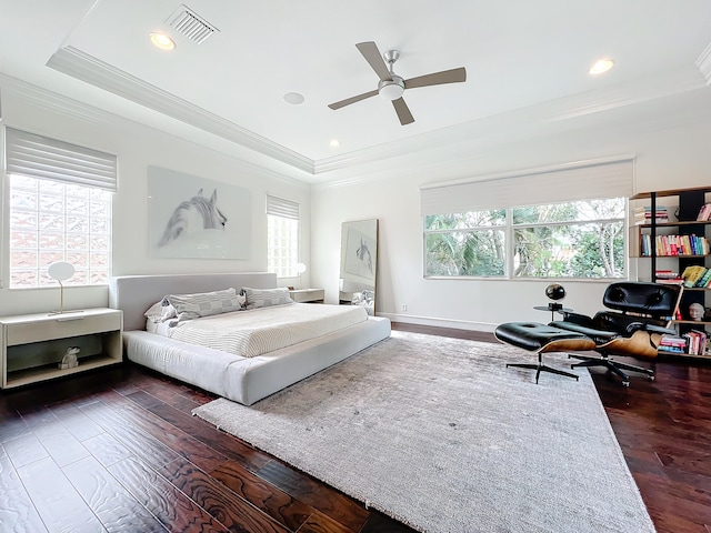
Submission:
[[623,198],[424,218],[429,276],[624,276]]

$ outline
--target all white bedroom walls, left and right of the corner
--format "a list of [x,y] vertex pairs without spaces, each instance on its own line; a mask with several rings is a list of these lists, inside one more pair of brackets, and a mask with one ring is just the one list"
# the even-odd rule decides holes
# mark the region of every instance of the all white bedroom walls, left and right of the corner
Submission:
[[[1,81],[1,79],[0,79]],[[113,205],[113,274],[228,272],[267,265],[264,193],[303,207],[303,286],[326,289],[338,299],[341,223],[375,218],[379,224],[378,313],[394,320],[491,330],[512,320],[545,320],[545,281],[425,280],[422,276],[422,219],[419,185],[587,159],[634,154],[637,191],[711,185],[711,89],[640,103],[614,113],[580,114],[527,123],[507,134],[463,139],[457,144],[333,171],[331,184],[308,185],[159,132],[56,97],[39,99],[0,84],[2,122],[77,144],[116,153],[119,192]],[[2,143],[0,143],[2,145]],[[435,155],[437,162],[431,162]],[[147,168],[149,164],[223,181],[252,191],[249,260],[157,260],[148,253]],[[7,194],[3,194],[7,202]],[[3,204],[3,211],[7,203]],[[3,217],[0,217],[2,220]],[[7,280],[7,228],[2,228],[0,278]],[[644,261],[644,260],[642,260]],[[631,265],[634,274],[635,264]],[[640,266],[644,269],[644,264]],[[284,280],[286,281],[286,280]],[[293,280],[291,283],[297,283]],[[567,282],[567,306],[599,309],[605,283]],[[0,289],[0,314],[57,308],[58,289]],[[106,305],[106,288],[69,288],[68,308]],[[408,306],[403,313],[402,305]]]

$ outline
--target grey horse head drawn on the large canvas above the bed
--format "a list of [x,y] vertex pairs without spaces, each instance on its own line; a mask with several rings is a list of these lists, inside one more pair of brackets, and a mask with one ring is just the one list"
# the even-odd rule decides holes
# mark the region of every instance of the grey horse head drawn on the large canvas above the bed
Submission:
[[174,209],[163,235],[158,241],[158,247],[168,243],[199,230],[222,230],[227,224],[227,217],[217,207],[218,190],[212,191],[208,199],[202,195],[202,189],[190,200],[180,202]]

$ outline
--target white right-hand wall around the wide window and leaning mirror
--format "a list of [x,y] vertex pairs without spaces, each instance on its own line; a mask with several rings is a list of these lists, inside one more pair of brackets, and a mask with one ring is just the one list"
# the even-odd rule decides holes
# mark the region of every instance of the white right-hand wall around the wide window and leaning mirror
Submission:
[[[365,181],[353,181],[358,170],[349,170],[343,172],[341,184],[316,185],[311,201],[312,258],[318,266],[313,281],[326,288],[327,301],[332,302],[338,290],[340,224],[377,218],[378,314],[404,322],[484,331],[505,321],[548,320],[550,315],[532,309],[548,303],[545,281],[423,279],[419,185],[633,154],[637,192],[711,187],[709,91],[693,95],[698,105],[691,110],[669,99],[661,107],[639,104],[602,117],[581,115],[564,124],[539,124],[527,135],[512,132],[514,140],[508,142],[462,141],[447,149],[449,165],[398,167],[393,161],[384,172],[360,169],[360,174],[368,177]],[[683,98],[689,101],[691,97]],[[604,119],[603,123],[600,119]],[[649,279],[649,260],[639,261],[647,261],[639,268]],[[632,279],[635,269],[632,263]],[[563,284],[567,306],[583,313],[600,309],[605,282]],[[407,312],[402,305],[407,305]]]

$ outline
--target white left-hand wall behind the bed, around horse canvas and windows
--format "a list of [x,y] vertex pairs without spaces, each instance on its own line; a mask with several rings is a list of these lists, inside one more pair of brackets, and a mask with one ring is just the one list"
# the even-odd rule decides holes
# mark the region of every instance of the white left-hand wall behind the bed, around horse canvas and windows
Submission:
[[[14,88],[2,90],[2,122],[118,155],[119,191],[113,201],[113,275],[193,272],[247,272],[267,269],[267,192],[299,202],[302,221],[302,257],[310,254],[310,185],[262,171],[237,158],[212,151],[119,117],[87,108],[63,98],[44,94],[41,100]],[[4,143],[0,143],[4,145]],[[0,148],[2,150],[2,148]],[[200,178],[239,185],[251,191],[251,250],[248,260],[151,259],[148,245],[148,165],[163,167]],[[7,202],[7,194],[3,194]],[[7,203],[3,204],[3,211]],[[8,229],[2,229],[7,258]],[[8,279],[2,259],[0,278]],[[311,265],[309,264],[309,268]],[[287,280],[284,280],[286,282]],[[296,283],[292,280],[291,283]],[[303,276],[309,283],[309,271]],[[108,305],[106,288],[67,288],[64,306],[80,309]],[[59,289],[0,289],[0,314],[51,311],[59,306]]]

